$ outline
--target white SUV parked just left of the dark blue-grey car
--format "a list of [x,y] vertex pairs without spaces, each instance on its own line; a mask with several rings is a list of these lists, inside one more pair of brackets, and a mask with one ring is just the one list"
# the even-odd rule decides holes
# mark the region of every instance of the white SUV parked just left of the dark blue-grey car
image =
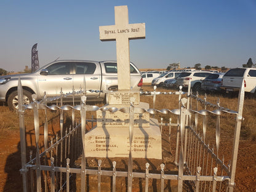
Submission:
[[188,88],[188,84],[191,79],[191,88],[194,90],[200,90],[202,80],[204,80],[209,74],[212,74],[209,71],[190,71],[182,72],[177,77],[176,85]]

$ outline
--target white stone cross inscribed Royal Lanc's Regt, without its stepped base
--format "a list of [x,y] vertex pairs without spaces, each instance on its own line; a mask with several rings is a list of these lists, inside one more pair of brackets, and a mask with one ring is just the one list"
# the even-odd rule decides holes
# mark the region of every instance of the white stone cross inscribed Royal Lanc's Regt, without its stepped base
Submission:
[[116,41],[118,90],[130,90],[130,39],[145,38],[145,23],[129,24],[127,6],[114,7],[115,25],[100,26],[101,41]]

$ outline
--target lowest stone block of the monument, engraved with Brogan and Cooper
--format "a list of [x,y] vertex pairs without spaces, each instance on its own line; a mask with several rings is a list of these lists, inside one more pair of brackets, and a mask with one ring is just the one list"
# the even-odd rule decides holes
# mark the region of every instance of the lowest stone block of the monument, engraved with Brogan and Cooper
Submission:
[[[129,127],[95,127],[86,134],[85,145],[86,157],[128,158]],[[162,159],[157,119],[150,119],[150,127],[134,127],[132,157]]]

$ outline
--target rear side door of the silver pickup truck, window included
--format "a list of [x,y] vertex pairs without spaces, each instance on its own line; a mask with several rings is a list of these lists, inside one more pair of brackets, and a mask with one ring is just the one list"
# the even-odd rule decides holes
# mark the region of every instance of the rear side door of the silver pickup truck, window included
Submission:
[[85,89],[86,96],[89,98],[97,98],[98,92],[89,92],[89,90],[100,90],[101,85],[101,70],[100,66],[94,62],[73,62],[74,75],[73,84],[74,90],[77,91],[80,87],[84,87],[84,78],[86,80]]

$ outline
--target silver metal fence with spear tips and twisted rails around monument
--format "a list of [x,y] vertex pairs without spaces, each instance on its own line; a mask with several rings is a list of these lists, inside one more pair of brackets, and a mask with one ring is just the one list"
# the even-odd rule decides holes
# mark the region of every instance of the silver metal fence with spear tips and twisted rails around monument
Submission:
[[[242,81],[243,82],[243,81]],[[90,92],[94,90],[89,90]],[[86,91],[87,92],[87,91]],[[127,191],[132,191],[133,183],[132,178],[141,178],[145,180],[143,191],[148,191],[150,182],[149,180],[160,180],[161,191],[166,191],[166,185],[168,181],[177,181],[177,191],[233,191],[234,190],[234,176],[236,171],[236,162],[238,158],[238,145],[239,134],[242,122],[242,108],[244,102],[244,85],[242,84],[239,100],[238,111],[229,110],[220,106],[220,102],[217,105],[207,102],[206,97],[204,99],[199,98],[199,95],[193,95],[190,93],[190,87],[188,92],[182,92],[182,89],[178,92],[141,92],[141,95],[152,95],[154,97],[153,102],[156,101],[157,95],[166,95],[171,97],[172,94],[178,95],[178,109],[161,109],[155,108],[145,109],[136,108],[132,103],[127,108],[108,108],[106,106],[90,106],[86,105],[86,92],[80,89],[78,92],[71,92],[63,94],[61,92],[60,97],[47,98],[46,96],[37,101],[33,97],[33,103],[29,105],[22,105],[22,83],[18,82],[18,113],[20,117],[20,139],[21,139],[21,153],[22,153],[22,173],[23,178],[23,191],[74,191],[73,185],[76,175],[81,176],[81,186],[78,191],[86,191],[87,185],[86,177],[89,175],[97,176],[98,191],[101,191],[101,178],[102,176],[108,176],[111,178],[111,191],[116,191],[116,178],[127,178]],[[95,91],[97,92],[97,91]],[[74,95],[81,95],[81,104],[74,105]],[[45,94],[46,95],[46,94]],[[63,98],[73,96],[73,105],[63,105]],[[182,95],[185,97],[182,98]],[[60,105],[49,105],[49,102],[57,102]],[[196,104],[193,103],[195,101]],[[153,103],[154,106],[154,103]],[[199,106],[202,110],[199,110]],[[30,160],[26,162],[26,141],[25,141],[25,110],[32,109],[34,111],[34,132],[36,140],[36,154],[30,152]],[[50,110],[49,110],[50,109]],[[214,109],[214,110],[212,110]],[[39,110],[45,111],[44,121],[44,145],[39,143]],[[169,140],[175,138],[175,165],[177,166],[177,174],[169,174],[165,172],[165,165],[161,164],[161,170],[159,173],[150,172],[150,164],[145,164],[145,172],[135,172],[132,170],[132,153],[129,155],[128,170],[120,171],[116,170],[116,162],[113,161],[112,170],[102,170],[102,160],[98,160],[98,169],[89,169],[86,166],[86,154],[84,149],[84,135],[86,134],[86,126],[88,122],[91,123],[91,127],[94,127],[95,120],[86,119],[87,111],[110,111],[115,113],[116,111],[122,111],[122,113],[130,114],[130,137],[132,137],[133,130],[133,115],[134,113],[172,113],[177,116],[177,123],[163,122],[163,118],[160,119],[159,127],[161,132],[163,129],[169,129]],[[49,138],[47,113],[49,111],[60,111],[60,135]],[[71,111],[72,123],[70,127],[63,127],[64,118],[68,115],[65,111]],[[75,111],[81,111],[80,122],[76,122]],[[65,113],[65,115],[64,115]],[[211,116],[209,116],[211,114]],[[230,162],[226,164],[224,158],[220,159],[220,116],[222,114],[234,115],[235,129],[233,138],[233,150]],[[202,125],[199,125],[199,119],[202,118]],[[207,130],[207,118],[216,119],[216,136],[215,147],[210,147],[206,141]],[[201,133],[202,130],[202,133]],[[131,141],[132,138],[130,138]],[[130,142],[130,152],[131,152]],[[215,151],[214,151],[215,148]],[[42,151],[44,149],[44,151]],[[40,152],[41,150],[41,152]],[[33,158],[34,156],[34,158]],[[76,159],[81,158],[81,165],[75,166]],[[44,185],[42,185],[42,183]],[[28,185],[30,184],[30,185]],[[185,186],[190,187],[185,187]],[[77,187],[77,186],[76,186]]]

